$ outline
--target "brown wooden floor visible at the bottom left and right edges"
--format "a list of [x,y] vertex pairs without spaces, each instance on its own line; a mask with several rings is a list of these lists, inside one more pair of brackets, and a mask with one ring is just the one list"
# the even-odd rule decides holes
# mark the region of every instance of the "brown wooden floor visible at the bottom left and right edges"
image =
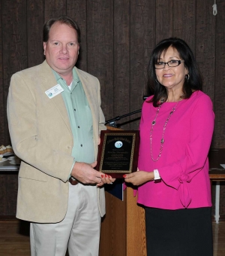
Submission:
[[[26,221],[0,221],[0,256],[30,256],[28,230]],[[213,256],[225,256],[225,221],[213,223],[213,237]]]

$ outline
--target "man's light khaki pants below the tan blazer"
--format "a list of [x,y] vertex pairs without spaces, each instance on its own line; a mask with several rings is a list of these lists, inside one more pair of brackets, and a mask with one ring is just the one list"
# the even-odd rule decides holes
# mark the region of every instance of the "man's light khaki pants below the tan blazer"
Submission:
[[31,256],[98,256],[101,216],[96,186],[69,187],[68,211],[54,224],[31,223]]

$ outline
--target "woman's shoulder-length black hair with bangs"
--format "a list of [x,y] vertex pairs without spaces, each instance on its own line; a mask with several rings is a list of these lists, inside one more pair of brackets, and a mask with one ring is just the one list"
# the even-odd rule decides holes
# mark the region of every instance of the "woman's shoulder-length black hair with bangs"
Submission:
[[163,85],[157,81],[154,64],[158,62],[161,54],[166,53],[166,50],[170,46],[178,51],[181,59],[184,59],[184,66],[187,68],[189,74],[184,80],[182,98],[188,99],[194,90],[202,90],[202,78],[190,47],[180,38],[164,39],[156,45],[151,53],[151,59],[148,63],[148,86],[154,94],[153,98],[149,102],[153,102],[154,107],[157,107],[157,105],[160,104],[160,99],[164,99],[164,101],[166,101],[168,98],[166,87],[163,87]]

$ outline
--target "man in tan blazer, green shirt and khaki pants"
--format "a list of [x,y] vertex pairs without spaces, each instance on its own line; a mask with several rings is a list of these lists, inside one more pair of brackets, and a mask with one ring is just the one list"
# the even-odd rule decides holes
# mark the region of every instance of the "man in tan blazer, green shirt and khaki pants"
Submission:
[[22,159],[17,218],[31,221],[31,255],[98,255],[104,183],[94,168],[105,130],[97,78],[74,68],[80,29],[70,17],[43,26],[46,60],[14,74],[7,117]]

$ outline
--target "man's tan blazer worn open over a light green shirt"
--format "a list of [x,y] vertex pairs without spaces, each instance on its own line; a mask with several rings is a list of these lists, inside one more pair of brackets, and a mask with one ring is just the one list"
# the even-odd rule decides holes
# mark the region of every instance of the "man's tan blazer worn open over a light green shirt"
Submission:
[[[105,130],[97,78],[76,69],[92,111],[95,156],[98,136]],[[74,157],[74,139],[62,95],[49,99],[45,91],[57,84],[44,61],[14,74],[7,99],[10,139],[22,159],[19,172],[17,218],[38,222],[62,221],[68,208],[68,176]],[[101,216],[105,214],[104,188],[98,189]]]

